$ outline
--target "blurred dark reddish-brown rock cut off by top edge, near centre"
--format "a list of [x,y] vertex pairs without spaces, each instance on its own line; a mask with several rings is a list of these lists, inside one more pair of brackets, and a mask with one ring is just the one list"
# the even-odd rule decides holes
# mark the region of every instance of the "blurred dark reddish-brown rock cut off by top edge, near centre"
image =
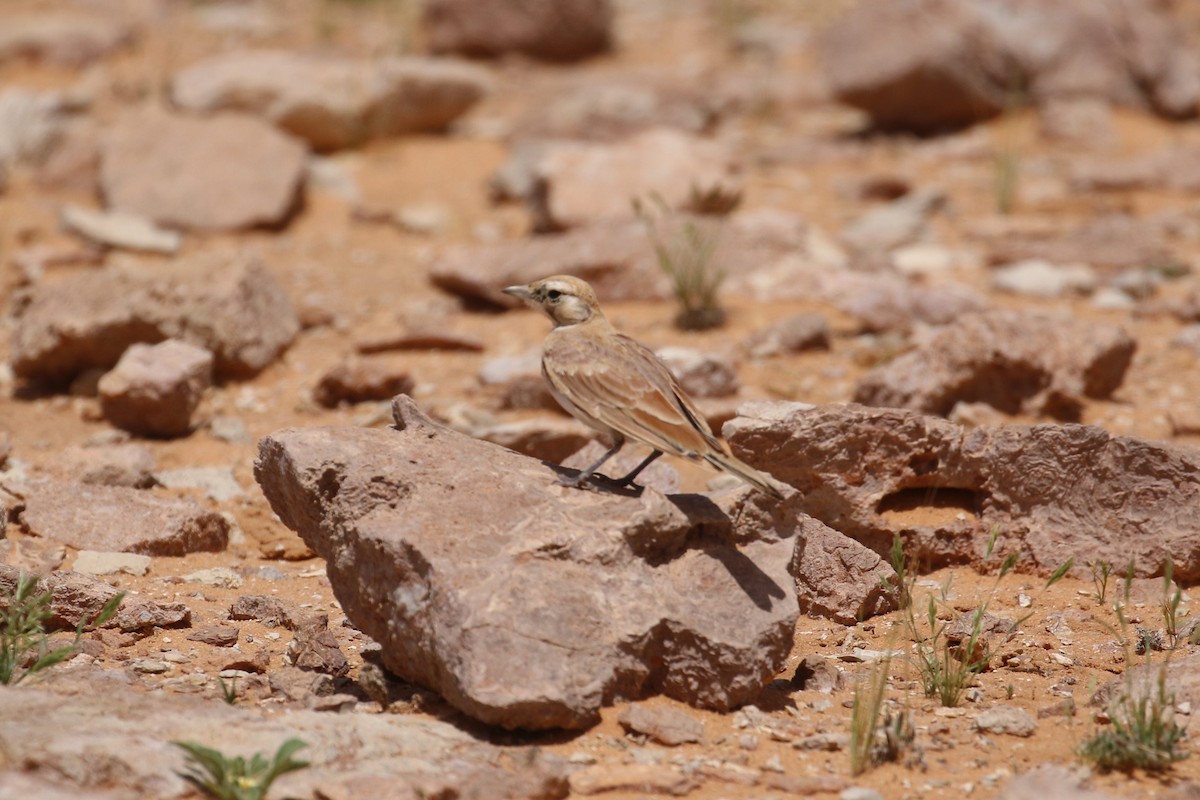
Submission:
[[431,0],[422,10],[434,53],[523,53],[547,61],[577,61],[612,44],[610,0]]

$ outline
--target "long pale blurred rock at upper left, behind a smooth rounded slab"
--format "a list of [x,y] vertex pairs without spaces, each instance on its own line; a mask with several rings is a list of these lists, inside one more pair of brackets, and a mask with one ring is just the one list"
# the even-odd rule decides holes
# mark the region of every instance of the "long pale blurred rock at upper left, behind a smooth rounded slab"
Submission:
[[178,72],[170,95],[191,112],[262,116],[328,151],[378,137],[440,131],[488,89],[484,68],[451,59],[365,61],[232,50]]

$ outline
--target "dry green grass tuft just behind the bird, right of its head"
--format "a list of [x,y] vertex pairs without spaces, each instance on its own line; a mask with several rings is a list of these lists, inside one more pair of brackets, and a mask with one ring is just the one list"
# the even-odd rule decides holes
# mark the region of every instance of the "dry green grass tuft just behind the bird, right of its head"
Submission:
[[[652,199],[656,211],[638,199],[634,200],[634,211],[646,225],[659,269],[671,278],[671,288],[679,303],[676,325],[694,331],[724,325],[725,309],[720,307],[716,295],[726,273],[714,263],[720,224],[697,219],[677,223],[668,218],[671,211],[661,197]],[[668,235],[668,227],[678,233]]]

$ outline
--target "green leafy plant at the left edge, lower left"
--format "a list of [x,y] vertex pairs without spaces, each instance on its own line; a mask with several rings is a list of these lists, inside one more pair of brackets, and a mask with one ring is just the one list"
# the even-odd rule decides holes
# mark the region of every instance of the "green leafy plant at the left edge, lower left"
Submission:
[[37,591],[37,578],[24,571],[17,573],[17,582],[11,594],[2,599],[4,610],[0,612],[0,684],[19,684],[30,675],[74,656],[79,651],[83,632],[89,626],[103,625],[110,620],[125,594],[110,597],[91,619],[79,620],[74,640],[53,650],[46,637],[52,599],[52,593]]

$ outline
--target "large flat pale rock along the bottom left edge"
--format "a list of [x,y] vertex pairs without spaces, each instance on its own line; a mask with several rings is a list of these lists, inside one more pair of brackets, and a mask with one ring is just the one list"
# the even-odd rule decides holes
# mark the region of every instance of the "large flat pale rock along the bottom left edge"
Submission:
[[[14,776],[44,798],[193,798],[184,753],[194,741],[229,757],[270,758],[287,739],[310,766],[282,776],[278,798],[562,798],[565,764],[533,753],[521,766],[503,750],[454,726],[415,715],[260,711],[168,692],[144,692],[119,678],[58,673],[49,688],[0,686],[0,789]],[[22,771],[12,770],[19,765]],[[22,783],[16,783],[22,786]],[[62,794],[54,794],[54,790]],[[5,794],[4,796],[25,796]]]

